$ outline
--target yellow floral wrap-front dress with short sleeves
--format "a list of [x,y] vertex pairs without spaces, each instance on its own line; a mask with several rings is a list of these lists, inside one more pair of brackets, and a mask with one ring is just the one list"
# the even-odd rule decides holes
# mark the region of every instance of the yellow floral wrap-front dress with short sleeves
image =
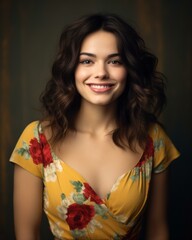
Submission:
[[44,211],[58,239],[137,239],[152,173],[179,156],[163,129],[151,126],[139,163],[121,175],[102,199],[77,171],[52,151],[38,121],[19,138],[10,161],[42,179]]

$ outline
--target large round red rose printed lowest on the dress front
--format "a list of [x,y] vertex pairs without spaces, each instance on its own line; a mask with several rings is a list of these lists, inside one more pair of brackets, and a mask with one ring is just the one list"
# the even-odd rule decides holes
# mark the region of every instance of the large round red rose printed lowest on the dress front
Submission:
[[93,206],[73,203],[67,209],[66,221],[71,230],[83,229],[95,215]]

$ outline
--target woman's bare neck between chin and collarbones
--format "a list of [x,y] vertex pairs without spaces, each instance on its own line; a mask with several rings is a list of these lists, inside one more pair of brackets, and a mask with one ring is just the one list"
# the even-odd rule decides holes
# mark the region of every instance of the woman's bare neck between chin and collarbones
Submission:
[[114,104],[101,106],[82,101],[76,119],[77,131],[89,134],[108,134],[116,127],[115,110]]

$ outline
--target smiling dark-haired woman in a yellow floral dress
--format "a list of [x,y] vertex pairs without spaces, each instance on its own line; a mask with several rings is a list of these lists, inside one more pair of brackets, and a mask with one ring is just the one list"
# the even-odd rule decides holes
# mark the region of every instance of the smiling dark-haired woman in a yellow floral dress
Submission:
[[11,157],[18,240],[39,239],[43,208],[55,239],[138,239],[147,199],[147,239],[168,239],[166,169],[179,153],[157,120],[165,94],[156,65],[116,15],[65,28],[44,117]]

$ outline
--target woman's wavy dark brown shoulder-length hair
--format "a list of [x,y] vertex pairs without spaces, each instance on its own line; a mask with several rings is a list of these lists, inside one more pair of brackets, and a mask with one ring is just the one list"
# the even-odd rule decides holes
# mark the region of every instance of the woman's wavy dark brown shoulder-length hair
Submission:
[[138,33],[115,14],[93,14],[68,25],[60,37],[59,51],[40,100],[44,110],[42,121],[48,120],[53,143],[75,131],[75,118],[81,96],[77,92],[74,72],[79,62],[83,40],[98,30],[113,33],[125,67],[126,87],[116,110],[117,128],[111,133],[114,143],[134,150],[137,142],[144,148],[151,123],[157,123],[166,102],[165,77],[158,72],[158,59],[150,53]]

